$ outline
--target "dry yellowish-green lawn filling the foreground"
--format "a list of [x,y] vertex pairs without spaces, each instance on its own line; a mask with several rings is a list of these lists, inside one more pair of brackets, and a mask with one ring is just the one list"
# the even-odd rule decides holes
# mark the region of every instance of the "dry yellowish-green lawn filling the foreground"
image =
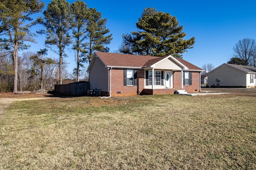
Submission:
[[256,169],[254,94],[12,103],[1,169]]

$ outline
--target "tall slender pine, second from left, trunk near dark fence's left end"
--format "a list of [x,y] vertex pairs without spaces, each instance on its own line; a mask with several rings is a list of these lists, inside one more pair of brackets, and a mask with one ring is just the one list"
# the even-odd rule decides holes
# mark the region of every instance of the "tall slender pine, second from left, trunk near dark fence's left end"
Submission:
[[[50,48],[60,57],[59,76],[62,84],[62,64],[65,57],[64,49],[72,43],[72,37],[69,35],[72,29],[73,15],[70,11],[70,4],[66,0],[52,0],[46,11],[44,11],[44,20],[41,22],[46,30],[40,30],[38,33],[45,34],[46,47]],[[56,49],[52,48],[55,46]]]

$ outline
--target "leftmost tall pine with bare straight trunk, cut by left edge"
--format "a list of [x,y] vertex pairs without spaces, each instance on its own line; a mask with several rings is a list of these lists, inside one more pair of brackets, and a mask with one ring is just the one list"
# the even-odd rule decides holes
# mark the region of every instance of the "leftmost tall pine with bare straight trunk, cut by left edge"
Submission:
[[24,41],[35,42],[35,34],[30,28],[36,25],[39,18],[33,21],[30,16],[41,12],[44,2],[40,0],[0,0],[0,46],[12,52],[14,63],[13,92],[18,91],[18,50],[29,46]]

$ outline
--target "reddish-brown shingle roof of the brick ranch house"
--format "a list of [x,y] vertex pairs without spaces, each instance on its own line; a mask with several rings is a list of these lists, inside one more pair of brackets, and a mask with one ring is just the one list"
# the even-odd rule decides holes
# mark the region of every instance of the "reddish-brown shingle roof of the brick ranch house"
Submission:
[[[106,66],[120,66],[120,67],[147,67],[151,66],[158,61],[168,57],[144,56],[144,55],[130,55],[118,53],[104,53],[95,52],[100,57]],[[183,60],[177,59],[180,63],[188,67],[189,70],[202,70],[201,68]]]

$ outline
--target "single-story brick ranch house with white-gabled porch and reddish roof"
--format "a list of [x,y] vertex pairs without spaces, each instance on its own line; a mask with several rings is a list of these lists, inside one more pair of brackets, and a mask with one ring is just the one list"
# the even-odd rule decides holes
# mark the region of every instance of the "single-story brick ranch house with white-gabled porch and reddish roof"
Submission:
[[95,52],[88,66],[90,89],[102,96],[199,91],[203,70],[172,55],[165,57]]

